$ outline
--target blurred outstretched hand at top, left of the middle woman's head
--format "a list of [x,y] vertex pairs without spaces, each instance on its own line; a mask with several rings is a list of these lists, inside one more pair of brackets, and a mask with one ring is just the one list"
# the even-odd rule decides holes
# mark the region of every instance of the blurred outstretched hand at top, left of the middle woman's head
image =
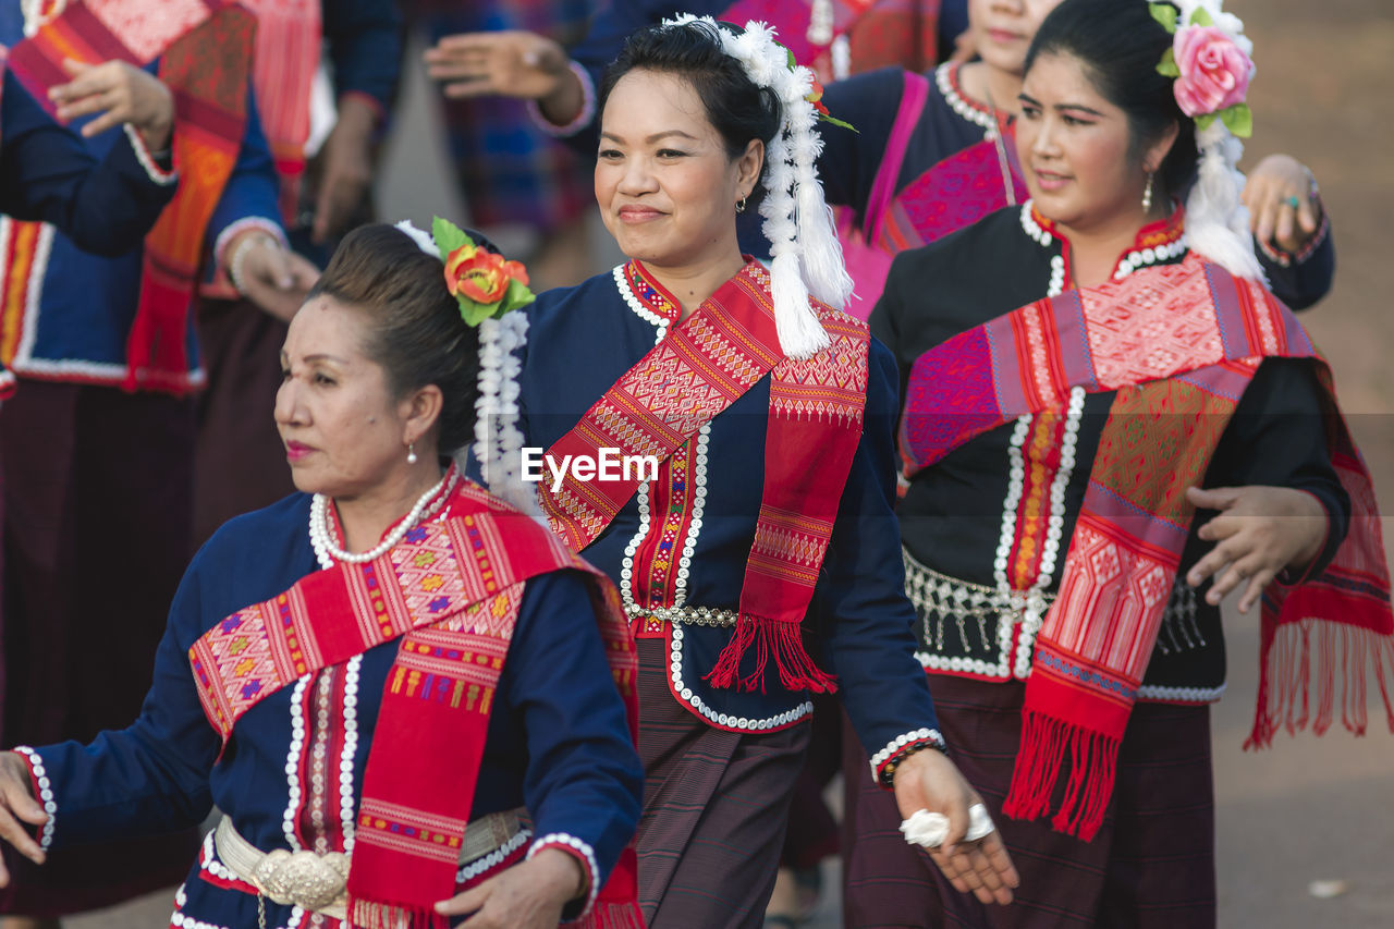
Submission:
[[537,100],[565,126],[580,116],[584,95],[566,50],[535,32],[447,35],[425,52],[427,74],[445,81],[449,98],[512,96]]

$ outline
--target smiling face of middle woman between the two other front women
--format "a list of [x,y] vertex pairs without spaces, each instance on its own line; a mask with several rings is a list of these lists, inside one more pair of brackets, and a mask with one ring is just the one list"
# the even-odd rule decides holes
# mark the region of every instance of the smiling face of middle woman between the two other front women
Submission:
[[736,204],[754,190],[764,145],[732,159],[684,78],[633,70],[605,102],[595,201],[630,258],[689,268],[739,254]]

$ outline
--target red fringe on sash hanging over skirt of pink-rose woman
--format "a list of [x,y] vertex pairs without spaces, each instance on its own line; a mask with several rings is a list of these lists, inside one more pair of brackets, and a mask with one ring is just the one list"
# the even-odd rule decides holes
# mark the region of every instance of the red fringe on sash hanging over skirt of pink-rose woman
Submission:
[[1051,829],[1092,841],[1114,794],[1119,739],[1041,713],[1022,714],[1022,748],[1002,812],[1040,819],[1050,810],[1061,766],[1069,755],[1069,783]]

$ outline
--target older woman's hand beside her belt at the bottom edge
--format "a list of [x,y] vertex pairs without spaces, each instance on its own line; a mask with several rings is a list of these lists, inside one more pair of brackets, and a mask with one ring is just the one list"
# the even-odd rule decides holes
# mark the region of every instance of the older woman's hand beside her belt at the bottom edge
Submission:
[[556,929],[562,908],[584,891],[580,862],[556,848],[436,904],[443,916],[474,915],[461,929]]

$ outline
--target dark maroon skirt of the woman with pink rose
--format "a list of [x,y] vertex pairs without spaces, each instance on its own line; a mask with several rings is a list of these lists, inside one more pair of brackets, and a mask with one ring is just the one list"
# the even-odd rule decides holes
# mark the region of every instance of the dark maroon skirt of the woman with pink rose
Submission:
[[[1050,819],[1002,815],[1020,748],[1022,683],[930,677],[953,762],[987,803],[1022,876],[1009,907],[984,907],[942,877],[901,836],[894,796],[875,787],[856,739],[845,739],[855,790],[846,812],[845,921],[864,926],[1210,929],[1216,925],[1210,709],[1139,703],[1118,780],[1092,843]],[[1061,777],[1064,790],[1068,778]],[[1058,802],[1058,799],[1057,799]]]

